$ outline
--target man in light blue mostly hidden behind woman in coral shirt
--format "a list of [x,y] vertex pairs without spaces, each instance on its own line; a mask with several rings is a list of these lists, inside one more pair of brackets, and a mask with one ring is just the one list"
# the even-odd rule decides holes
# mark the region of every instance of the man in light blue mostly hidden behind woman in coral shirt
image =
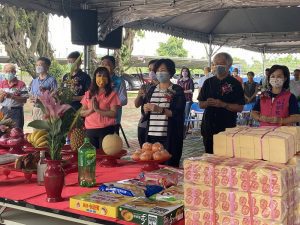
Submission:
[[121,101],[121,107],[117,109],[116,115],[116,132],[119,134],[122,118],[122,107],[127,105],[127,91],[125,81],[121,76],[115,74],[114,70],[116,67],[116,59],[113,56],[106,55],[101,58],[101,66],[106,67],[111,76],[113,90],[118,93]]

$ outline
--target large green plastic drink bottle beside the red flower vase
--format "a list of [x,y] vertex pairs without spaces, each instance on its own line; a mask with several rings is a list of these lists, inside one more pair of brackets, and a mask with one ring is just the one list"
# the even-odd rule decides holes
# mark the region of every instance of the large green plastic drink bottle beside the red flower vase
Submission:
[[78,183],[82,187],[93,187],[96,184],[96,148],[88,138],[78,150]]

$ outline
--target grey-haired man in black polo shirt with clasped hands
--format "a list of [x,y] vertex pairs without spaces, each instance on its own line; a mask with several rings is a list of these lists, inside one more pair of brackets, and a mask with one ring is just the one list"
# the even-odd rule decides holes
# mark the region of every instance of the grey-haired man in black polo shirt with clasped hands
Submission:
[[199,105],[204,110],[201,134],[206,153],[213,153],[213,135],[235,127],[237,112],[245,104],[242,85],[230,76],[232,57],[225,52],[213,59],[215,76],[207,79],[199,93]]

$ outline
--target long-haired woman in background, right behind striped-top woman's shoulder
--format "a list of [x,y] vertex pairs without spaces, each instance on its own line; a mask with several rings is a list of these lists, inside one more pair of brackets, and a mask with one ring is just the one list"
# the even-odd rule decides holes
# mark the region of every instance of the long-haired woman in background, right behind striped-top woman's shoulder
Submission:
[[[185,110],[184,110],[184,116],[185,119],[188,118],[190,113],[191,105],[193,104],[193,92],[194,92],[194,82],[191,78],[191,72],[187,67],[182,67],[180,78],[177,81],[177,84],[183,88],[184,95],[185,95]],[[184,135],[186,134],[186,124],[184,127]]]

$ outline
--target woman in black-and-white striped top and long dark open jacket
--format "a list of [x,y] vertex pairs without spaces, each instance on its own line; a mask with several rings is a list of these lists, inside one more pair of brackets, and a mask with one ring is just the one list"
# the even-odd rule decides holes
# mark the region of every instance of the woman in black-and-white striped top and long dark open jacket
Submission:
[[149,89],[144,100],[146,140],[163,144],[172,155],[167,164],[178,167],[183,145],[185,96],[182,87],[170,81],[175,74],[172,60],[158,60],[154,71],[159,84]]

